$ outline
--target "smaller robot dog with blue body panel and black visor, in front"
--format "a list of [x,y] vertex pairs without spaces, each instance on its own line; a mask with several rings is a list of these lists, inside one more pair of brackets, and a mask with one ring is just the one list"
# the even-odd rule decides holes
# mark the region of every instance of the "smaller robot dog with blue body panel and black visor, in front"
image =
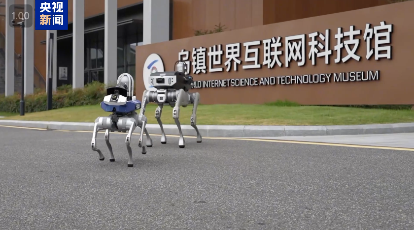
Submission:
[[112,146],[109,143],[109,132],[123,132],[128,131],[127,138],[125,139],[125,144],[127,144],[129,161],[128,167],[133,167],[132,160],[132,148],[131,144],[131,135],[134,132],[136,127],[141,128],[139,135],[138,146],[142,147],[142,154],[146,153],[146,148],[143,144],[143,132],[146,136],[146,146],[152,146],[151,137],[148,134],[148,131],[145,128],[147,118],[145,115],[138,115],[136,110],[139,110],[141,107],[141,102],[136,100],[134,95],[134,79],[128,73],[123,73],[119,75],[117,80],[117,85],[114,87],[109,87],[106,89],[106,96],[104,101],[101,102],[101,108],[106,112],[112,112],[112,115],[109,116],[100,116],[96,118],[94,125],[94,133],[92,136],[92,150],[99,153],[99,159],[103,161],[105,159],[102,151],[97,147],[96,144],[96,135],[100,130],[105,131],[105,142],[109,148],[110,159],[109,161],[115,161],[112,152]]

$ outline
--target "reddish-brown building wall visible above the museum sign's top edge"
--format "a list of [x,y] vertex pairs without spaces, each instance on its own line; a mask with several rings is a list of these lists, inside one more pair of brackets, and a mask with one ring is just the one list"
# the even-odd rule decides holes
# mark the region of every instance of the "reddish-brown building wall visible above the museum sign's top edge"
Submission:
[[173,0],[173,39],[195,30],[244,29],[388,4],[388,0]]

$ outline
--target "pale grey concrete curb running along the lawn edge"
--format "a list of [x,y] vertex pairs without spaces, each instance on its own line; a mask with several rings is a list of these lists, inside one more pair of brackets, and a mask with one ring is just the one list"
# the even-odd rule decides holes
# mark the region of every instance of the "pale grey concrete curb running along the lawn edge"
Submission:
[[[57,122],[0,120],[0,125],[52,130],[93,131],[92,122]],[[178,135],[176,125],[163,125],[167,135]],[[147,124],[150,134],[161,134],[158,124]],[[414,123],[332,125],[332,126],[266,126],[266,125],[198,125],[203,137],[283,137],[283,136],[325,136],[357,134],[414,133]],[[185,136],[195,136],[190,125],[181,125]],[[139,128],[135,130],[139,132]]]

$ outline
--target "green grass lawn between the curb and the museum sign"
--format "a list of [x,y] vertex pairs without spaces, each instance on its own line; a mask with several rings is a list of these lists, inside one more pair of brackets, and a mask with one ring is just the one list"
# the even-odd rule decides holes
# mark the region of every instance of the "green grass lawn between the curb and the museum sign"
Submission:
[[[156,124],[157,105],[148,104],[145,115],[148,123]],[[139,111],[137,111],[139,113]],[[190,124],[192,105],[181,107],[181,124]],[[70,107],[52,111],[18,114],[1,114],[0,119],[93,122],[98,116],[106,116],[100,105]],[[172,108],[164,106],[164,124],[175,124]],[[275,105],[199,105],[199,125],[352,125],[414,122],[414,111],[363,109],[327,106],[275,106]]]

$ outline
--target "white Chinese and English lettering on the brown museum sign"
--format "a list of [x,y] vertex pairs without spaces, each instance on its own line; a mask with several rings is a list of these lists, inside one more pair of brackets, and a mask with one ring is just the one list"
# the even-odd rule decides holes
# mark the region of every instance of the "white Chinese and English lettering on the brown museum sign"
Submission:
[[[240,68],[243,70],[289,68],[293,62],[298,66],[305,66],[308,60],[311,62],[311,65],[316,65],[317,61],[329,65],[331,64],[330,57],[332,55],[335,55],[335,64],[346,63],[350,59],[356,61],[361,61],[362,58],[367,60],[373,58],[375,60],[381,58],[392,59],[392,32],[393,25],[386,24],[383,21],[377,26],[366,24],[364,31],[355,29],[355,26],[350,26],[347,31],[344,31],[343,28],[338,28],[335,34],[335,46],[333,49],[331,49],[331,30],[325,29],[322,33],[316,31],[310,34],[299,34],[284,38],[277,36],[265,40],[226,44],[225,46],[218,44],[208,48],[198,47],[193,48],[191,52],[183,49],[178,53],[178,60],[182,60],[187,64],[190,75],[197,76],[207,74],[208,72],[238,71]],[[362,39],[356,37],[361,34],[363,34]],[[356,53],[361,46],[361,42],[366,43],[364,57],[358,56]],[[244,49],[243,57],[241,57],[242,49]],[[285,52],[285,58],[282,60],[279,57],[283,52]],[[343,52],[345,52],[345,57],[342,55]],[[262,54],[263,61],[259,61],[260,54]],[[222,63],[223,56],[225,58],[224,65]],[[318,58],[321,58],[321,60],[317,60]],[[197,80],[197,77],[195,79]],[[205,80],[196,81],[194,87],[319,84],[378,80],[380,80],[380,71],[370,70]]]

